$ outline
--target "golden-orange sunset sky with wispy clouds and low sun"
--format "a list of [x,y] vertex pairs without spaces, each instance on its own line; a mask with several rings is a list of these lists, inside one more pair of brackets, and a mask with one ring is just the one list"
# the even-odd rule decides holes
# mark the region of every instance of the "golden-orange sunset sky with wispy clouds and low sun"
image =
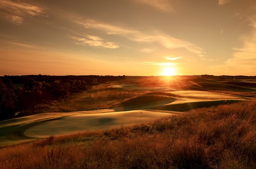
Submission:
[[0,0],[3,75],[256,76],[255,0]]

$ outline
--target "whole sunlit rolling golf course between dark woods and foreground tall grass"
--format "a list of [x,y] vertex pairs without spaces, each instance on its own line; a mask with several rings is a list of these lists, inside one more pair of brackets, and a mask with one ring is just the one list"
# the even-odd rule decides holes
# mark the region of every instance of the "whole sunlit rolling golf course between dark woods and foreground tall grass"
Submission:
[[256,101],[254,84],[248,79],[220,82],[184,77],[130,77],[108,82],[54,102],[45,113],[0,121],[0,145],[145,123],[218,104]]

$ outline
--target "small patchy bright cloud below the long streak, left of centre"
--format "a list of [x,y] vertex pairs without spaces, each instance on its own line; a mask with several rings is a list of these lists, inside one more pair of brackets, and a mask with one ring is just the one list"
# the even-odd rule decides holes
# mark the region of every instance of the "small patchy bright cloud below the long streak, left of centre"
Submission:
[[83,37],[69,36],[69,38],[76,41],[78,45],[93,46],[100,48],[119,48],[119,45],[114,42],[105,41],[103,38],[94,35],[84,34]]

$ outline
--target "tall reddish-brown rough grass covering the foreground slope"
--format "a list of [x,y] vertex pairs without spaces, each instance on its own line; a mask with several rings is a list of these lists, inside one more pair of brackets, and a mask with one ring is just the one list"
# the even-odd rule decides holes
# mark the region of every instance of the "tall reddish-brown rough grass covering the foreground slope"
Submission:
[[2,147],[0,168],[256,168],[256,103]]

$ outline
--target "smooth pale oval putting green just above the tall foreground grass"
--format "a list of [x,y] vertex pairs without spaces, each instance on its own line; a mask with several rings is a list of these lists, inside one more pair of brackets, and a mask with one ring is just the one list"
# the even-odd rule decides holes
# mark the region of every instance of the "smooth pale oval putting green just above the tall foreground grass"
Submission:
[[143,123],[179,113],[180,112],[136,110],[98,114],[77,114],[33,126],[28,128],[24,134],[30,137],[46,137],[81,131],[100,131],[120,127],[121,125]]

